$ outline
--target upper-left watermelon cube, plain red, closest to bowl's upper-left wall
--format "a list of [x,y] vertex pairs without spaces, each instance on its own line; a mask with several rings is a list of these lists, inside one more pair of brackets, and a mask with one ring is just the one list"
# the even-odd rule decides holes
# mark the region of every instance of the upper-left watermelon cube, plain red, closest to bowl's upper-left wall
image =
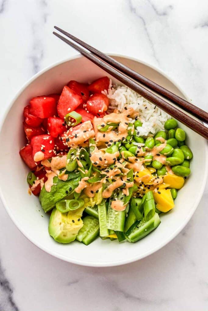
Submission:
[[30,107],[31,114],[42,119],[56,115],[56,100],[53,97],[34,97],[30,100]]

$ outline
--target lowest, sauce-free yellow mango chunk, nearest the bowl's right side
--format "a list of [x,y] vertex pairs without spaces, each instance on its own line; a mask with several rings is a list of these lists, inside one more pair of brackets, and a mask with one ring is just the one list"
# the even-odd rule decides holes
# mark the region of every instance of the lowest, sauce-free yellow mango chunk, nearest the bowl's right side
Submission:
[[153,191],[153,197],[157,203],[157,209],[162,212],[170,211],[175,206],[171,195],[171,190],[159,189],[158,192]]

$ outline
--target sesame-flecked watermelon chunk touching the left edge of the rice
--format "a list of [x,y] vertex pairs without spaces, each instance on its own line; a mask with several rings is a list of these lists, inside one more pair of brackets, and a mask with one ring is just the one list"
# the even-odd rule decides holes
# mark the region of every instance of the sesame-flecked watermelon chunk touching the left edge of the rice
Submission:
[[109,103],[109,99],[106,95],[102,93],[96,93],[90,96],[89,100],[87,101],[87,111],[96,116],[101,115],[108,109]]

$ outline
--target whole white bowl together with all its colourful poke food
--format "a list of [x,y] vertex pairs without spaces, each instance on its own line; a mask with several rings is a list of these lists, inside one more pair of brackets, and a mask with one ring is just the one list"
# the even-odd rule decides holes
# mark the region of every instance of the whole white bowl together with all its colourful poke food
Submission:
[[[160,70],[112,57],[187,99]],[[162,248],[190,220],[207,179],[205,139],[81,56],[22,87],[0,144],[12,221],[42,250],[85,266]]]

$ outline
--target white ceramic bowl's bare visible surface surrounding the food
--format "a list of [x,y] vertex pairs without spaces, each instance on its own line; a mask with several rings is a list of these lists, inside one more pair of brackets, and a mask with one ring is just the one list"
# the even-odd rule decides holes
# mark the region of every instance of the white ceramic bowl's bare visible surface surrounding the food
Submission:
[[[180,88],[156,68],[125,56],[114,55],[114,58],[185,98]],[[25,144],[22,127],[23,108],[34,96],[60,92],[70,80],[88,82],[104,75],[106,73],[103,70],[80,56],[42,70],[22,87],[12,101],[0,133],[0,193],[3,204],[17,228],[47,253],[68,262],[95,267],[133,262],[170,242],[196,210],[204,191],[208,163],[206,140],[180,124],[186,131],[186,142],[194,154],[191,175],[178,193],[175,208],[161,216],[161,224],[157,230],[134,244],[119,244],[117,240],[111,242],[109,239],[103,241],[99,238],[88,246],[77,241],[70,244],[55,242],[48,234],[48,215],[44,214],[38,198],[27,193],[28,168],[19,156],[19,150]]]

